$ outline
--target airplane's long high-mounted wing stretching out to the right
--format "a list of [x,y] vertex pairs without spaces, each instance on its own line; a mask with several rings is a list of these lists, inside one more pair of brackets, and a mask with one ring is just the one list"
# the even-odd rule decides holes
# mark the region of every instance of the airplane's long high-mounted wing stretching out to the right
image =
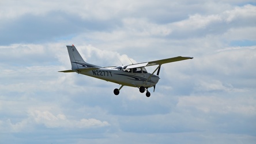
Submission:
[[126,69],[132,69],[132,68],[135,68],[135,67],[163,65],[164,63],[178,62],[180,60],[186,60],[186,59],[193,59],[193,57],[177,56],[177,57],[174,57],[174,58],[161,59],[161,60],[155,60],[155,61],[144,62],[144,63],[137,63],[137,64],[134,64],[134,65],[127,66]]

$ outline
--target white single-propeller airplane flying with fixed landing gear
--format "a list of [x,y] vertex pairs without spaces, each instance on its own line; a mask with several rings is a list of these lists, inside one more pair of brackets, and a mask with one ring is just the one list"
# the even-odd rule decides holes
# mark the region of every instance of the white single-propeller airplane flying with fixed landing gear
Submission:
[[[73,73],[88,75],[89,77],[103,79],[121,85],[120,88],[114,89],[114,94],[118,95],[123,86],[132,86],[138,88],[141,93],[146,91],[146,97],[150,97],[148,88],[153,87],[155,92],[156,84],[159,81],[161,65],[165,63],[177,62],[180,60],[193,59],[193,57],[177,56],[174,58],[154,60],[150,62],[136,63],[126,66],[101,67],[86,63],[77,51],[74,44],[67,46],[71,62],[71,70],[58,71],[62,73]],[[157,68],[153,73],[148,73],[145,67],[155,66]],[[157,71],[157,73],[156,73]],[[155,75],[156,73],[156,75]]]

